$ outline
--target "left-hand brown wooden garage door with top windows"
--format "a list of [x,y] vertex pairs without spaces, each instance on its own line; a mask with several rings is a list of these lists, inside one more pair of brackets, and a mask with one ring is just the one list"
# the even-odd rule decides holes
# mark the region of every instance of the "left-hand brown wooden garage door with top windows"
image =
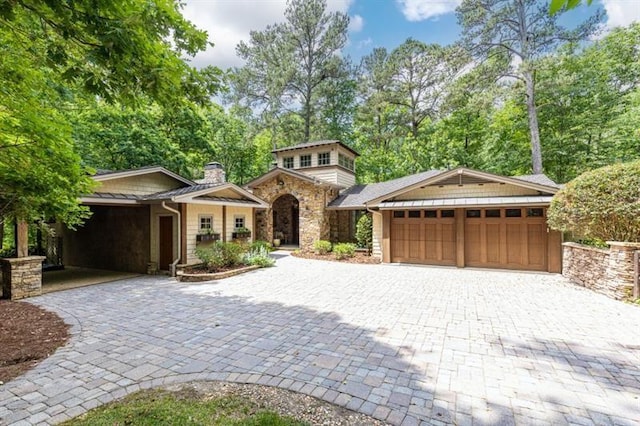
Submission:
[[391,213],[391,261],[455,265],[455,211],[393,211]]

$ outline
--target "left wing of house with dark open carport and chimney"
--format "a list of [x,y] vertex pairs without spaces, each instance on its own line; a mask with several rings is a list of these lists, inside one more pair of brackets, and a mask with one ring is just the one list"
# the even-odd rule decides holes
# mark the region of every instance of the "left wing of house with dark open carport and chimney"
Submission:
[[204,240],[231,241],[238,228],[253,229],[255,211],[268,205],[226,182],[218,163],[207,164],[204,175],[193,182],[162,167],[98,172],[95,192],[81,199],[92,216],[75,231],[58,230],[64,263],[174,271],[198,262],[195,248]]

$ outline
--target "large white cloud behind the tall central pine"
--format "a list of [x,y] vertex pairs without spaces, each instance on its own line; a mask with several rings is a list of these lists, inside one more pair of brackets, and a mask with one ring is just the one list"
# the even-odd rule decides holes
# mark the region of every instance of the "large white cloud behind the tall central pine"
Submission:
[[[352,2],[327,0],[327,10],[347,13]],[[214,65],[222,69],[242,65],[235,53],[237,44],[248,41],[252,30],[260,31],[267,25],[284,21],[286,5],[286,0],[186,0],[182,10],[185,18],[206,30],[209,41],[215,45],[200,52],[192,60],[193,65]]]

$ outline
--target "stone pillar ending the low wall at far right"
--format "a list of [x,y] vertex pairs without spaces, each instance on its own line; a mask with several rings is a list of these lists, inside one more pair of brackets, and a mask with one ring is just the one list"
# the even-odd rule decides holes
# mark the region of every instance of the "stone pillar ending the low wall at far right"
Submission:
[[607,244],[609,244],[609,263],[605,279],[609,287],[614,290],[615,299],[626,299],[633,291],[633,257],[635,251],[640,250],[640,243],[607,241]]

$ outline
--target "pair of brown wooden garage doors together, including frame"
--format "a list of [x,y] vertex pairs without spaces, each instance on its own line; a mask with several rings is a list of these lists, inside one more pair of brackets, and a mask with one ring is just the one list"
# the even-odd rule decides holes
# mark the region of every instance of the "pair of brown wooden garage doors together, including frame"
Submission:
[[[548,271],[559,268],[559,235],[543,207],[392,210],[392,262]],[[557,240],[557,241],[556,241]]]

